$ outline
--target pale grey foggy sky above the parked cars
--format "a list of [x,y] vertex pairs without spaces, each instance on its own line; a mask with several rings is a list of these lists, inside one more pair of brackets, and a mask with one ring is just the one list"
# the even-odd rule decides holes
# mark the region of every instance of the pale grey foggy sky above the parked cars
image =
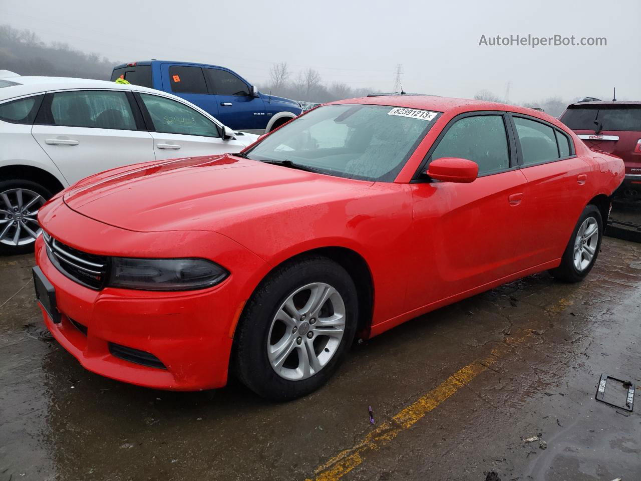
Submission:
[[[641,1],[0,0],[0,24],[110,60],[185,60],[265,83],[274,62],[326,83],[526,102],[641,100]],[[487,47],[481,35],[606,37],[607,46]],[[0,68],[2,68],[0,66]]]

